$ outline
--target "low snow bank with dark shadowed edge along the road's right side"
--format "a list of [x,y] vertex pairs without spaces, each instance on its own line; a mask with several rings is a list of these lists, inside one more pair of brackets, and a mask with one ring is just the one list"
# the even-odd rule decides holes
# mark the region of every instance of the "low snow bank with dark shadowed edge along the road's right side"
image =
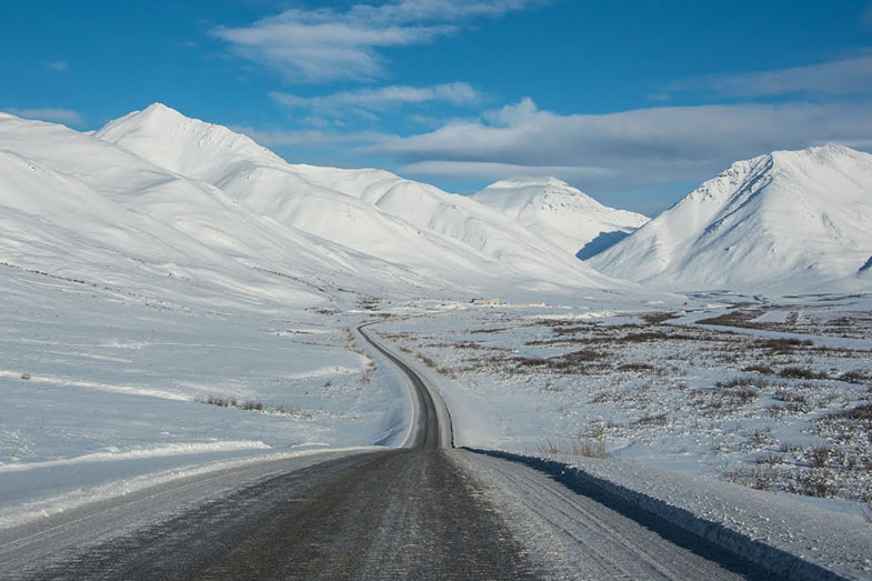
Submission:
[[642,509],[779,575],[872,577],[872,530],[866,523],[792,499],[611,460],[468,450],[541,470],[619,512],[637,512],[637,519]]

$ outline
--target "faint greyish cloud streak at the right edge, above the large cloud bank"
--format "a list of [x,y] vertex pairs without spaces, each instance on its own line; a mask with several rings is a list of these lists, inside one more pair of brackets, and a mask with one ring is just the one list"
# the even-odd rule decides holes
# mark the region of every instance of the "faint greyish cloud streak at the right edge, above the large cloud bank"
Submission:
[[670,87],[671,92],[688,90],[725,98],[866,94],[872,93],[872,54],[788,69],[706,77]]

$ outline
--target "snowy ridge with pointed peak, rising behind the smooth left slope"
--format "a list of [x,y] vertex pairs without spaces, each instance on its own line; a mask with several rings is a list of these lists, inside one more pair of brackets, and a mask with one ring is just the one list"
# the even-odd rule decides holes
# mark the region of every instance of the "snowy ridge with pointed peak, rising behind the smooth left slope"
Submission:
[[401,264],[481,288],[511,278],[601,287],[607,278],[468,198],[380,170],[289,164],[248,137],[156,103],[96,137],[201,180],[261,217]]

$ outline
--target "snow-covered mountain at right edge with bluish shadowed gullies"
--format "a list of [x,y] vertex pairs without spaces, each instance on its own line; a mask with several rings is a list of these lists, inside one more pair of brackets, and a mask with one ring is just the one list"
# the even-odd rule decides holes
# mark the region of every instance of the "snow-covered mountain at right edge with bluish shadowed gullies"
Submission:
[[868,288],[872,154],[824,146],[739,161],[589,263],[663,288]]

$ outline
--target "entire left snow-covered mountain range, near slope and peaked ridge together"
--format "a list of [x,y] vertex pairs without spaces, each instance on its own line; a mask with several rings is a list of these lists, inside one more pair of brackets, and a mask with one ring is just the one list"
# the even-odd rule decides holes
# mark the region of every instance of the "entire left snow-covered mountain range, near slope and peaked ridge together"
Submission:
[[94,133],[0,114],[0,194],[3,268],[168,303],[613,286],[465,198],[377,170],[291,166],[160,104]]

